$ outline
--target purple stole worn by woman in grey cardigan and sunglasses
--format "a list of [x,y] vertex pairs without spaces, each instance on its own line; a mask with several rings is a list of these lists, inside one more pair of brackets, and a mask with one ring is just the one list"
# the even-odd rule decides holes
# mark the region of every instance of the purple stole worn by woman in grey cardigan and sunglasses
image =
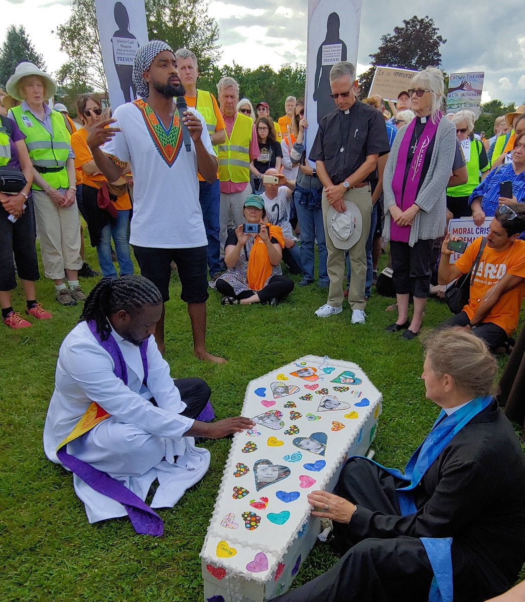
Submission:
[[[423,132],[417,141],[415,147],[414,157],[412,157],[412,163],[405,183],[405,171],[406,163],[408,161],[408,151],[411,146],[412,134],[414,134],[415,124],[417,117],[412,120],[412,123],[406,127],[405,135],[399,146],[399,152],[397,153],[396,169],[394,170],[394,178],[392,180],[392,190],[394,197],[396,198],[396,205],[405,211],[415,203],[417,197],[417,187],[421,179],[421,170],[423,169],[423,162],[428,150],[430,141],[435,137],[438,125],[441,120],[441,113],[436,114],[435,122],[427,118],[426,125],[424,126]],[[405,184],[405,191],[403,193],[403,184]],[[398,226],[394,220],[391,220],[390,224],[390,240],[399,241],[400,243],[408,243],[410,237],[411,226]]]

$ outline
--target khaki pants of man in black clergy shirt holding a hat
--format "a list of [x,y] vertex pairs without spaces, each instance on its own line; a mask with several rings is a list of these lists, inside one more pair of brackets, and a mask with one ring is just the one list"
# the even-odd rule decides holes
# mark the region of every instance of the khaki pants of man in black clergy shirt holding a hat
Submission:
[[[350,269],[352,276],[350,278],[350,288],[348,291],[348,302],[352,309],[365,309],[365,285],[367,279],[367,252],[366,244],[368,234],[370,233],[370,216],[372,213],[372,197],[368,187],[352,188],[347,190],[343,196],[344,200],[354,203],[362,217],[361,238],[354,246],[349,249]],[[326,228],[326,214],[330,205],[326,199],[326,193],[323,191],[323,222],[325,224],[326,249],[328,250],[328,259],[326,259],[326,270],[330,279],[328,290],[328,303],[332,307],[341,307],[343,305],[343,281],[346,271],[344,261],[344,250],[336,249]]]

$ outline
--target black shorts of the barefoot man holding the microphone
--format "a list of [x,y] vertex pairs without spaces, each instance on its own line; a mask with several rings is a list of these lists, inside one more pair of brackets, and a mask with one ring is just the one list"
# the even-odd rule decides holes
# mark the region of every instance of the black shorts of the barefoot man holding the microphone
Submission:
[[169,286],[172,261],[177,264],[181,279],[181,299],[185,303],[205,303],[208,299],[207,246],[188,249],[153,249],[133,245],[140,273],[155,285],[166,303],[170,298]]

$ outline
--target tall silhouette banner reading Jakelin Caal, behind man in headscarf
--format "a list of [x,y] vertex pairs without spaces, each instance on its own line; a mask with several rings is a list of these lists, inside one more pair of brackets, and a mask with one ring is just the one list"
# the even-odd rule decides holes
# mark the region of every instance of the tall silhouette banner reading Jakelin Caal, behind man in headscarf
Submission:
[[139,46],[148,42],[144,0],[95,0],[104,71],[111,108],[137,98],[133,61]]

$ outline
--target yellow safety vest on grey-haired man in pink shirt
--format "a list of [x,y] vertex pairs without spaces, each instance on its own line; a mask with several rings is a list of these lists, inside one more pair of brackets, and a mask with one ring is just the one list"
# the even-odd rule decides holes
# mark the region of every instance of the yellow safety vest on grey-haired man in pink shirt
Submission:
[[250,141],[253,121],[237,113],[231,136],[226,132],[226,144],[219,144],[219,180],[221,182],[250,181]]

